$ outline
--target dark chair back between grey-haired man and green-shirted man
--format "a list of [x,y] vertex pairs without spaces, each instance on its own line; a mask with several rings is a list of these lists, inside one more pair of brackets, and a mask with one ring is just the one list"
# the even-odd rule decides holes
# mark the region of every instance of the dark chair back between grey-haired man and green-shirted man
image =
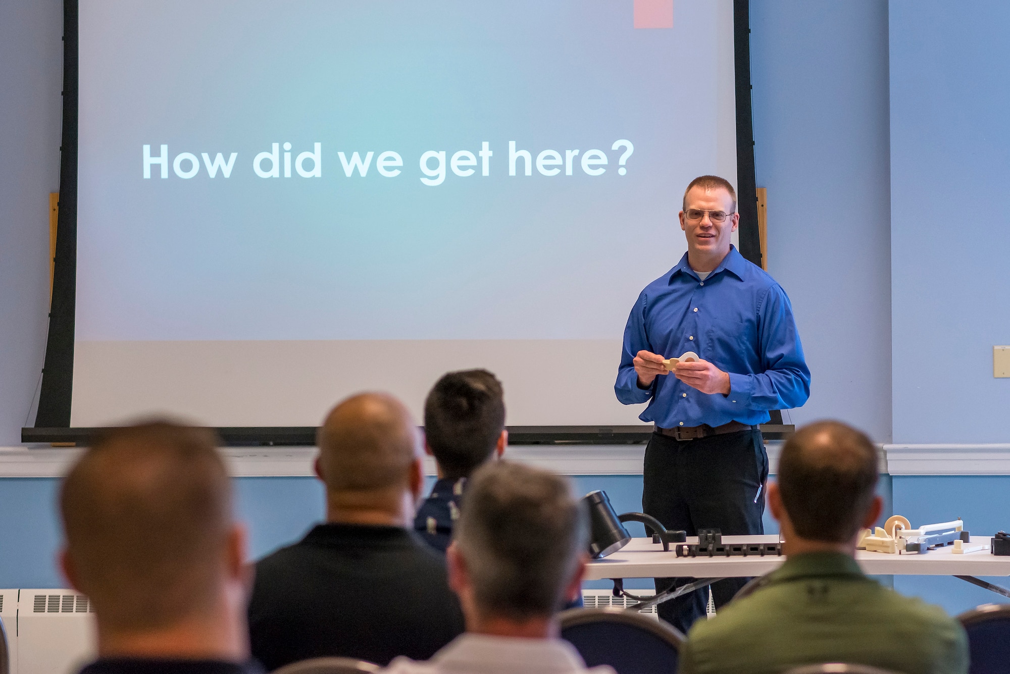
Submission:
[[570,608],[561,614],[562,639],[590,667],[610,665],[617,674],[674,674],[684,635],[636,610],[616,606]]

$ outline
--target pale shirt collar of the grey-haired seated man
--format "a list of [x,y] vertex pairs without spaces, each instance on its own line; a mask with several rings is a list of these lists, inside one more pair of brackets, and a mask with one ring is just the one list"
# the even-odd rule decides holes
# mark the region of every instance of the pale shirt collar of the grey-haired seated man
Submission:
[[579,652],[561,639],[523,639],[467,633],[457,637],[431,659],[438,669],[472,673],[584,672]]

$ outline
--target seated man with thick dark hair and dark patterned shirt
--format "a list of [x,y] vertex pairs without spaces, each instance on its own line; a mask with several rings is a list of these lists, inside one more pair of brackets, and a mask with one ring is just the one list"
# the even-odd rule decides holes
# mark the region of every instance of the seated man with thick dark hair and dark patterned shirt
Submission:
[[444,374],[424,402],[425,451],[435,457],[438,481],[417,510],[414,529],[445,552],[467,478],[508,445],[505,394],[486,369]]

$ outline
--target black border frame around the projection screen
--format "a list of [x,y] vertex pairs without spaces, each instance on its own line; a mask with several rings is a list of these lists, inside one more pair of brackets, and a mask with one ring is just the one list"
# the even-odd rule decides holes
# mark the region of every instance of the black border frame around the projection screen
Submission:
[[[45,360],[32,427],[21,429],[23,443],[85,444],[96,429],[73,428],[74,321],[77,301],[78,171],[78,16],[79,0],[64,0],[63,128],[60,146],[60,201],[54,257],[53,299]],[[749,0],[733,0],[733,57],[736,101],[736,188],[740,214],[740,254],[761,266],[758,197],[754,177],[753,117],[750,99]],[[750,195],[750,198],[740,198]],[[314,427],[233,427],[215,429],[225,444],[314,444]],[[766,436],[788,432],[766,425]],[[512,426],[511,444],[646,442],[651,428],[641,426]]]

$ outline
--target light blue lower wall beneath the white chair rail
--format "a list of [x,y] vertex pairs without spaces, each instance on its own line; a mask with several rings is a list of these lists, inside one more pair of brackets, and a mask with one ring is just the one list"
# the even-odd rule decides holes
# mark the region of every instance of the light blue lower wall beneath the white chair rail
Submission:
[[[579,493],[603,489],[618,513],[641,510],[641,475],[578,475]],[[430,480],[429,480],[430,485]],[[0,479],[0,587],[62,587],[55,559],[60,546],[56,499],[59,480]],[[956,517],[970,531],[991,536],[1010,528],[1010,476],[881,476],[885,516],[898,513],[913,525],[944,522]],[[249,527],[251,553],[261,557],[297,540],[323,512],[321,484],[311,477],[240,477],[235,479],[238,516]],[[640,525],[629,526],[642,536]],[[765,515],[768,533],[778,531]],[[1010,585],[1007,578],[988,578]],[[589,587],[609,588],[609,581]],[[1001,597],[943,576],[896,576],[894,586],[905,594],[958,613]],[[651,587],[648,580],[628,581],[627,587]]]

